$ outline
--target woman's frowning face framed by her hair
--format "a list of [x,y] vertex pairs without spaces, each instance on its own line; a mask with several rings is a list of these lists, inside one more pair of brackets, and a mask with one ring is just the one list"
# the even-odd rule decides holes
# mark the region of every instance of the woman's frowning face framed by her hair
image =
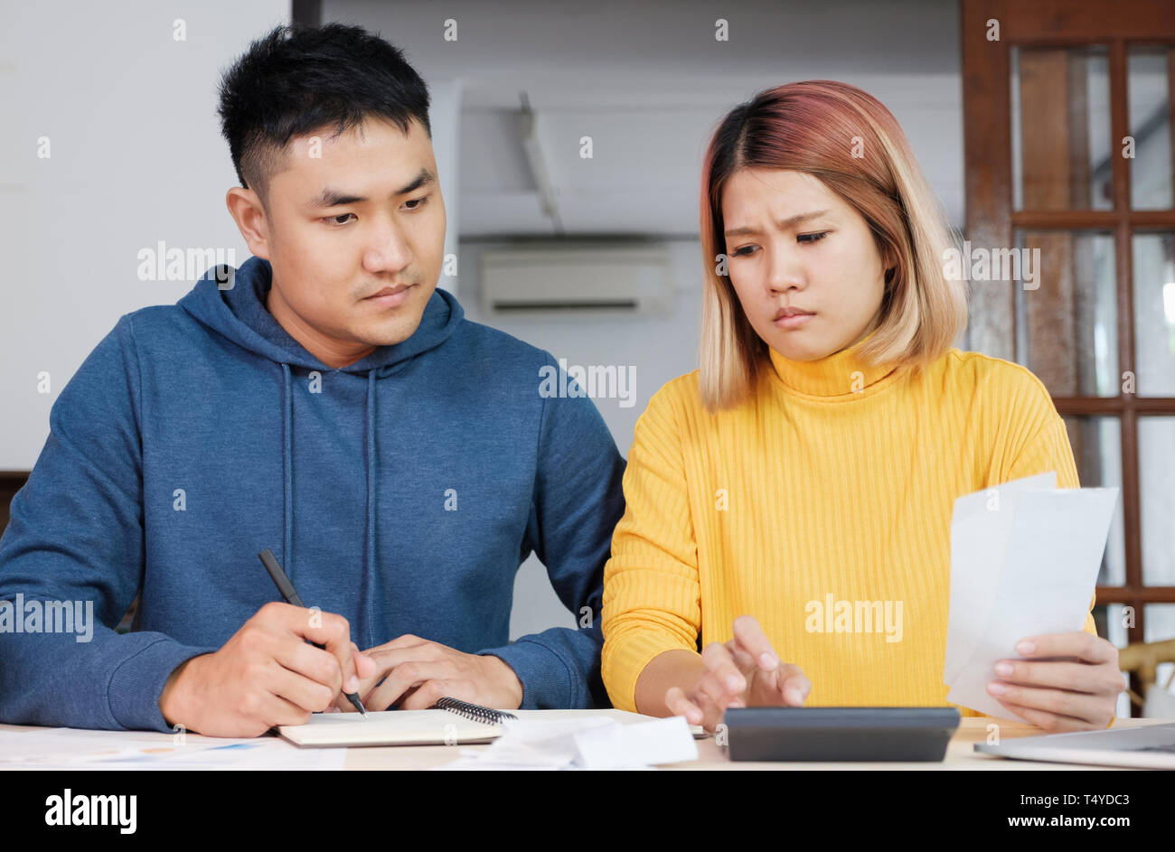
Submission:
[[723,193],[723,221],[743,313],[777,353],[813,361],[877,328],[881,255],[861,215],[819,179],[739,169]]

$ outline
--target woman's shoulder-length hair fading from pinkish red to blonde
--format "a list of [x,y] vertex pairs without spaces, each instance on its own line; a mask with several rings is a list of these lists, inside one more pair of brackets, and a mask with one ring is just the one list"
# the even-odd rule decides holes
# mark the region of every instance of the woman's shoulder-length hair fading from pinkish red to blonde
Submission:
[[886,273],[881,317],[861,347],[870,363],[915,370],[954,343],[967,324],[967,286],[944,274],[946,220],[906,135],[880,101],[833,80],[760,92],[721,120],[701,170],[705,287],[698,351],[701,400],[711,410],[741,402],[767,362],[725,270],[723,190],[743,168],[819,177],[868,223]]

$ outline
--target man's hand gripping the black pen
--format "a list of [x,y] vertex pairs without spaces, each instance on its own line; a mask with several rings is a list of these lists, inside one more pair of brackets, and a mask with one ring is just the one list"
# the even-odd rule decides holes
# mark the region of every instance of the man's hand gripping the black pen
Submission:
[[221,650],[179,666],[159,707],[167,724],[195,733],[256,737],[274,725],[304,724],[331,705],[344,680],[348,692],[357,691],[372,667],[342,616],[270,603]]

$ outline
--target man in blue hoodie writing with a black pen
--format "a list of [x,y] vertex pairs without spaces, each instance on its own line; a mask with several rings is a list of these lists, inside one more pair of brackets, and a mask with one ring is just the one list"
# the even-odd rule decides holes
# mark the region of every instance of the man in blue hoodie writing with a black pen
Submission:
[[[226,74],[227,203],[254,257],[121,317],[54,404],[0,602],[92,602],[101,623],[80,642],[0,609],[0,720],[255,736],[350,710],[344,692],[607,706],[624,462],[591,401],[540,394],[550,354],[436,289],[428,107],[356,27],[278,27]],[[309,609],[274,603],[267,548]],[[580,628],[509,643],[532,550]]]

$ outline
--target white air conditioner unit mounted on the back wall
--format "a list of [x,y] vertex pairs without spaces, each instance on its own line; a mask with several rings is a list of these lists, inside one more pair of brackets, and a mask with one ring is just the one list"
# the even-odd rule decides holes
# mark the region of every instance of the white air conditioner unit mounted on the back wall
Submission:
[[566,243],[486,249],[486,316],[667,313],[673,295],[664,243]]

